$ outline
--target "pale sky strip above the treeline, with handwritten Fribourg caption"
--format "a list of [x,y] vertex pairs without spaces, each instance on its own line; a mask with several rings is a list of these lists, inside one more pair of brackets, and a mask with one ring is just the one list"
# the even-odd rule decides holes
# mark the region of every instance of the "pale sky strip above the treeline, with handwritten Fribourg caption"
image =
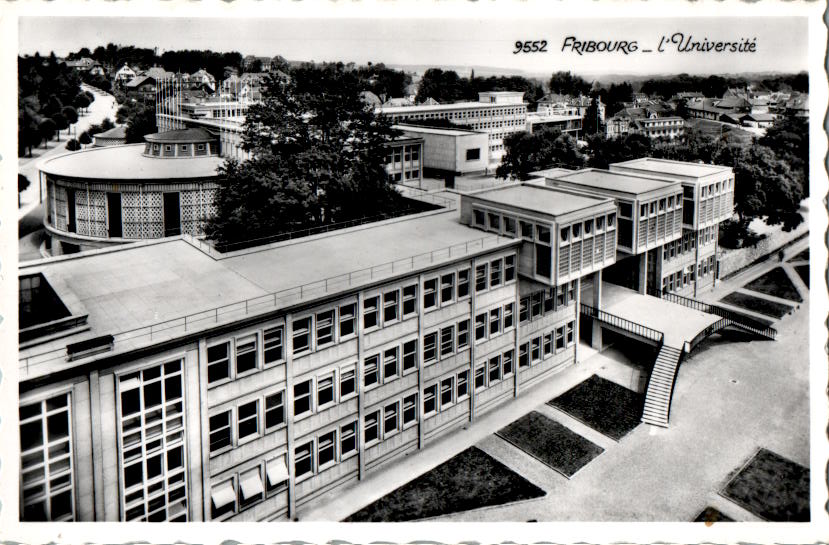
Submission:
[[[685,52],[663,45],[676,33],[693,40],[756,44],[754,52]],[[807,69],[805,17],[616,19],[492,18],[138,18],[21,17],[19,52],[65,55],[108,42],[168,49],[236,50],[289,60],[368,61],[392,65],[490,66],[549,74],[724,74]],[[580,55],[565,40],[636,42],[623,51]],[[516,41],[546,40],[546,51],[513,53]],[[539,45],[541,45],[539,43]],[[564,49],[564,50],[562,50]],[[650,53],[643,50],[650,49]]]

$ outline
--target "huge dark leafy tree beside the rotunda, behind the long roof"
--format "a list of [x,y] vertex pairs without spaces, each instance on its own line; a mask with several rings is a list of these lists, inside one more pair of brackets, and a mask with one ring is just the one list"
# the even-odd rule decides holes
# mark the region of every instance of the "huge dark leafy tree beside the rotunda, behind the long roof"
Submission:
[[383,146],[396,131],[362,103],[355,70],[304,65],[290,82],[268,79],[245,120],[244,147],[253,158],[220,168],[208,237],[222,245],[400,206]]

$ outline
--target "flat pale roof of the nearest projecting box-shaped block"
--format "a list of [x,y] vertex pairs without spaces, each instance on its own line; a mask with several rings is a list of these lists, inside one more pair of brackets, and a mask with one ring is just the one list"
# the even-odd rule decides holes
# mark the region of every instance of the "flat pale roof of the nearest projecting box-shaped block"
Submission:
[[580,195],[534,184],[490,189],[476,192],[470,196],[498,204],[541,212],[550,216],[562,216],[610,201],[608,198]]

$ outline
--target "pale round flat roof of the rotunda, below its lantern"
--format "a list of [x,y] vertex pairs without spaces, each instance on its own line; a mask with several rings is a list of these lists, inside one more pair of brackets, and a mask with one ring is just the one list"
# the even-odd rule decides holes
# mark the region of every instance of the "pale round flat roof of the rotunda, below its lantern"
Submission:
[[146,157],[145,144],[70,151],[41,162],[40,170],[55,176],[91,180],[169,180],[210,178],[223,157]]

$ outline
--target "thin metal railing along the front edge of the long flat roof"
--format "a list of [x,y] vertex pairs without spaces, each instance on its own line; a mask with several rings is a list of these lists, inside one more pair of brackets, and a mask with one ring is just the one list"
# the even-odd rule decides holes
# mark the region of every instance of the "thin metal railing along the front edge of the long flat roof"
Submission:
[[[506,242],[514,242],[514,240],[508,237],[489,235],[438,250],[432,250],[431,252],[424,252],[266,295],[195,312],[186,316],[121,331],[112,335],[112,350],[142,348],[152,343],[174,339],[186,333],[207,329],[215,325],[227,324],[246,316],[264,314],[298,303],[312,301],[324,295],[364,286],[374,281],[422,269],[446,260],[457,259],[487,248],[495,248]],[[24,375],[39,373],[44,367],[48,368],[50,365],[65,361],[68,361],[65,347],[20,358],[21,378]],[[52,369],[49,369],[49,371],[44,372],[51,371]]]

